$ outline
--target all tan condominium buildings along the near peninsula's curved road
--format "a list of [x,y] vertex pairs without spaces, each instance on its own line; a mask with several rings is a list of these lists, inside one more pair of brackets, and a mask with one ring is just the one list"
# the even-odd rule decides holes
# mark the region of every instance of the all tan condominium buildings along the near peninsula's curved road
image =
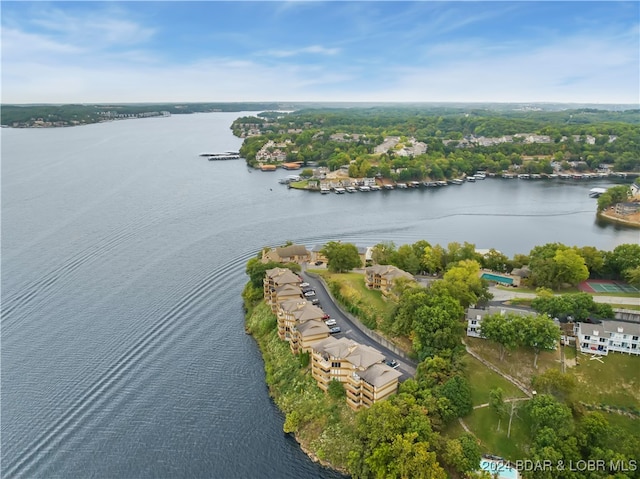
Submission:
[[[321,249],[309,251],[302,245],[265,249],[262,261],[324,262]],[[370,250],[359,248],[363,264]],[[386,277],[384,271],[378,275]],[[379,285],[375,289],[390,288],[391,278],[376,282],[374,276],[373,284]],[[347,404],[354,410],[369,407],[397,392],[402,373],[387,365],[385,356],[375,348],[332,336],[325,322],[330,321],[328,315],[314,304],[317,299],[305,296],[300,276],[290,269],[276,267],[266,271],[263,285],[265,302],[277,318],[279,338],[289,343],[293,354],[310,354],[311,374],[320,389],[327,391],[331,381],[339,381],[345,389]]]

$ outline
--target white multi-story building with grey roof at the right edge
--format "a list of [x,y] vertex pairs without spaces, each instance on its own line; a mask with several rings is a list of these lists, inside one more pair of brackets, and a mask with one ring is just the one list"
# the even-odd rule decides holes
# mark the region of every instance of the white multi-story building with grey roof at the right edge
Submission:
[[640,355],[640,324],[602,321],[576,323],[576,344],[580,351],[606,356],[610,351]]

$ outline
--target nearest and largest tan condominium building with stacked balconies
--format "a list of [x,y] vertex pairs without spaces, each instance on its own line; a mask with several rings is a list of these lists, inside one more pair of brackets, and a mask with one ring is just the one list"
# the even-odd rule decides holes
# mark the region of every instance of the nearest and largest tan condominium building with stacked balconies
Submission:
[[352,409],[369,407],[398,390],[399,371],[384,364],[378,350],[347,338],[329,337],[311,345],[311,374],[323,391],[340,381]]

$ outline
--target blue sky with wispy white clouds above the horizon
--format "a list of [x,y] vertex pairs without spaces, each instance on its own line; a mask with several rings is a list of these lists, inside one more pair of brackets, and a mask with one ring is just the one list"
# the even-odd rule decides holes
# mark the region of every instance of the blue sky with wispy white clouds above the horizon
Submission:
[[640,102],[640,3],[2,1],[2,102]]

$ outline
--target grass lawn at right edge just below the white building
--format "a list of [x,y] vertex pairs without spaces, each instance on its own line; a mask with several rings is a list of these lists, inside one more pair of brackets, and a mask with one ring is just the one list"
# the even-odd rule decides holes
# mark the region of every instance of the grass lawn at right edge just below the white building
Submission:
[[640,409],[640,357],[611,353],[590,359],[578,353],[578,365],[567,370],[578,380],[578,398],[590,404]]

